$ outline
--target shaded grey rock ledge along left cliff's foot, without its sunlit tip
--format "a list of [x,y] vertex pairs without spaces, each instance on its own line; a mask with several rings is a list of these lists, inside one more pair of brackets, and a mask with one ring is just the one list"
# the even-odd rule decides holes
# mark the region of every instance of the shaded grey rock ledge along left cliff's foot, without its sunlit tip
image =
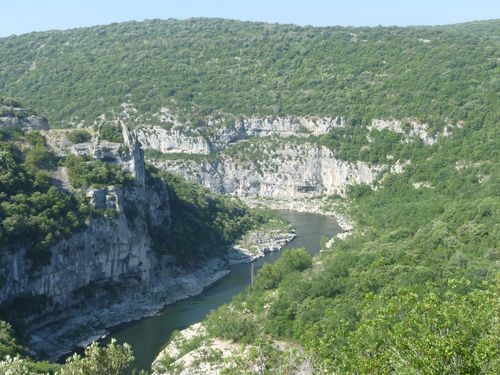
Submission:
[[110,287],[103,286],[85,306],[32,322],[29,347],[41,348],[49,361],[60,360],[106,337],[114,327],[154,316],[169,304],[202,293],[229,272],[226,260],[212,258],[195,269],[176,268],[163,273],[151,289],[139,287],[137,280],[116,284],[113,288],[128,291],[119,300],[113,298]]

